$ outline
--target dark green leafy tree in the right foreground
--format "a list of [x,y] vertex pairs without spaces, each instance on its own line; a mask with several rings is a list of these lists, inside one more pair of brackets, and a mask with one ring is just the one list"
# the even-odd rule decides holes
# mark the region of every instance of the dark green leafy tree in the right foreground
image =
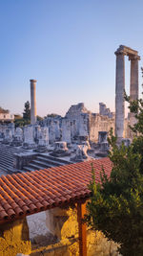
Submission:
[[[130,99],[126,97],[130,102]],[[86,220],[96,230],[119,244],[118,251],[125,256],[143,255],[143,101],[130,102],[137,123],[133,126],[135,138],[127,148],[116,145],[109,137],[112,173],[108,179],[104,170],[101,184],[95,183],[92,170],[91,201]],[[136,134],[138,136],[136,136]]]

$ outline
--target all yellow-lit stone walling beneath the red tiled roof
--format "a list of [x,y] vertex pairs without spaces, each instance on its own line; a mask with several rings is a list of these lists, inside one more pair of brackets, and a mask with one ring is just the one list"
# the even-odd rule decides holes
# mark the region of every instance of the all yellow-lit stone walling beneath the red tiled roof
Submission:
[[[55,208],[50,210],[50,215],[59,243],[36,247],[31,251],[28,224],[26,219],[22,219],[0,226],[0,256],[16,256],[17,253],[31,256],[79,256],[76,207]],[[117,245],[108,242],[101,232],[88,228],[88,256],[118,256],[116,248]]]

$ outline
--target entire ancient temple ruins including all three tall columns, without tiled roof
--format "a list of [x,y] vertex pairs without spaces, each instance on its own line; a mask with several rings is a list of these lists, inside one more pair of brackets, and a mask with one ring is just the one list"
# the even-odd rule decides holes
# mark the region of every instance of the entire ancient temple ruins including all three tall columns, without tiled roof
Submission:
[[111,128],[119,143],[124,141],[127,146],[130,144],[132,133],[129,125],[133,126],[135,118],[131,113],[130,118],[125,119],[124,115],[124,57],[128,56],[131,60],[131,100],[138,98],[140,57],[137,51],[123,45],[119,46],[115,55],[115,113],[104,103],[99,103],[99,113],[92,113],[83,103],[79,103],[72,105],[65,117],[48,115],[37,122],[36,80],[31,80],[31,125],[23,128],[14,128],[13,123],[7,122],[0,125],[1,154],[8,147],[8,151],[11,151],[8,158],[10,161],[13,159],[13,169],[11,164],[9,169],[9,166],[5,168],[3,157],[0,157],[1,172],[40,170],[106,156],[109,151],[107,137]]

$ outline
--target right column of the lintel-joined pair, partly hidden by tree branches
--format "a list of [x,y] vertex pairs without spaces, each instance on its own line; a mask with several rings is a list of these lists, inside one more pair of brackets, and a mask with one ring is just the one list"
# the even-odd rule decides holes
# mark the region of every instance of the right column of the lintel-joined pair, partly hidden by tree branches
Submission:
[[[130,99],[131,101],[138,99],[138,56],[129,56],[131,60],[131,82],[130,82]],[[130,125],[136,123],[133,113],[130,113]]]

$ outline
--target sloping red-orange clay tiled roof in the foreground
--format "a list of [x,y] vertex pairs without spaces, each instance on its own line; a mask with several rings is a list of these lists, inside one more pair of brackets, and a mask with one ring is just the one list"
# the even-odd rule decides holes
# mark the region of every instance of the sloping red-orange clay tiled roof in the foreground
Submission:
[[94,159],[31,173],[0,177],[0,223],[89,198],[87,185],[92,177],[100,182],[102,167],[110,176],[109,158]]

